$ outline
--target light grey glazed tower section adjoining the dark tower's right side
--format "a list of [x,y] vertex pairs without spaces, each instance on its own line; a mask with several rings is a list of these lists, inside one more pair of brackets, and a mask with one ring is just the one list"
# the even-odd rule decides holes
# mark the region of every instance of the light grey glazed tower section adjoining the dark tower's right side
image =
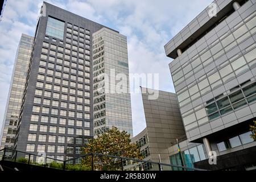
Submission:
[[115,126],[133,137],[127,39],[108,28],[93,34],[93,106],[94,136]]

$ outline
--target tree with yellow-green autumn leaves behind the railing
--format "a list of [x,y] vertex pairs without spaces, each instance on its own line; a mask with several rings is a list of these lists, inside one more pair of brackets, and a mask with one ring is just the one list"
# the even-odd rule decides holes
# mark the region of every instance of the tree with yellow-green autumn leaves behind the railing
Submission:
[[[83,154],[98,153],[105,155],[122,156],[126,158],[143,159],[138,144],[131,143],[130,134],[127,131],[120,132],[113,127],[108,132],[98,135],[96,139],[89,140],[89,143],[82,147]],[[91,165],[91,156],[82,159],[82,164]],[[121,160],[106,156],[93,156],[94,169],[98,170],[120,170]]]

